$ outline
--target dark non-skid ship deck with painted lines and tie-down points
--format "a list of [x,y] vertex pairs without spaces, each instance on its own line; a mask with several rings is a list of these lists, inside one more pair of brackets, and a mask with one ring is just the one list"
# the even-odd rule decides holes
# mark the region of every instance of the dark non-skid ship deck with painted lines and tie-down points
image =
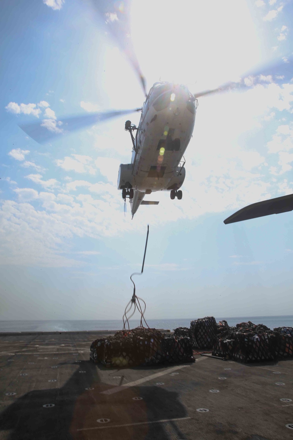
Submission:
[[0,336],[1,440],[293,439],[293,359],[108,369],[96,337]]

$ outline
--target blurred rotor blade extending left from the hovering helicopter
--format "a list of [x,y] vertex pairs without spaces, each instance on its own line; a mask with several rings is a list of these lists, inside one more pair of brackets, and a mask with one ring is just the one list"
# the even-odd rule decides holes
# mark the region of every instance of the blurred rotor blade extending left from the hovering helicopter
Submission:
[[94,125],[98,122],[106,121],[107,119],[111,119],[113,117],[140,110],[141,109],[98,112],[81,116],[65,117],[61,118],[61,121],[55,121],[54,119],[43,119],[42,122],[19,125],[19,127],[36,142],[46,143],[55,137],[80,130],[81,128],[88,127],[89,125]]

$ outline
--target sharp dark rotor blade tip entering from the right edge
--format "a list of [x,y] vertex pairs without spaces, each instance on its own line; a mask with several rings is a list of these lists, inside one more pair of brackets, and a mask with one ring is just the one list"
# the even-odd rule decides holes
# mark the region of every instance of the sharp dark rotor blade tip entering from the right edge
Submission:
[[293,210],[293,194],[282,197],[263,200],[253,203],[245,208],[239,209],[232,216],[224,220],[224,224],[235,223],[237,221],[250,220],[257,217],[269,216],[271,214],[288,213]]

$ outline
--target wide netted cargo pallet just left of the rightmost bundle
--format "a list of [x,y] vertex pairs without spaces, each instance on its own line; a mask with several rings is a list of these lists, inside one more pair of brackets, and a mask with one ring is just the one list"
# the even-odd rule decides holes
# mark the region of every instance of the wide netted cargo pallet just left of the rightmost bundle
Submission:
[[277,338],[271,333],[235,334],[232,358],[238,362],[259,362],[276,359]]

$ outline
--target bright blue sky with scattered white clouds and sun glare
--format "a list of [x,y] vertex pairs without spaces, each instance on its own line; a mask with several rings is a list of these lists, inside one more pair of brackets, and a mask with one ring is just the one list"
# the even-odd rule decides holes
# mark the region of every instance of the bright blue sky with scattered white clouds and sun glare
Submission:
[[196,93],[264,70],[245,91],[199,98],[182,200],[153,193],[159,205],[133,220],[117,190],[127,117],[42,145],[18,126],[142,106],[107,19],[90,0],[1,10],[0,319],[122,319],[148,224],[135,279],[146,318],[293,315],[293,213],[223,223],[293,193],[292,1],[132,2],[148,90],[161,79]]

